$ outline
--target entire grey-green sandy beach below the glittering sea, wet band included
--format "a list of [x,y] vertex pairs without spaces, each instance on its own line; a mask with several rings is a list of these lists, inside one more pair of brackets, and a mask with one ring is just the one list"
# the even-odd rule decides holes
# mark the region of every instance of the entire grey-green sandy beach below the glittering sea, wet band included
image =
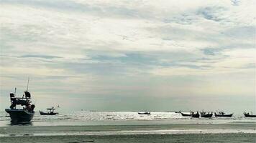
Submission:
[[156,124],[0,127],[0,142],[255,142],[247,124]]

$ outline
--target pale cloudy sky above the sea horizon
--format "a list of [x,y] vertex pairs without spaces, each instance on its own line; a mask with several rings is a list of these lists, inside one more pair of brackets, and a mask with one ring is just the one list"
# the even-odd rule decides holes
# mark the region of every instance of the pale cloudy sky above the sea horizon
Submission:
[[0,110],[256,112],[256,1],[0,0]]

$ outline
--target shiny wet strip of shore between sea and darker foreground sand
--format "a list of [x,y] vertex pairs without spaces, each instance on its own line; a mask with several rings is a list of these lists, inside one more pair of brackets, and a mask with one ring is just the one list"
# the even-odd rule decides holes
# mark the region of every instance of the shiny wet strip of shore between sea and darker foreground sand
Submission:
[[151,124],[0,127],[0,137],[136,134],[256,134],[255,124]]

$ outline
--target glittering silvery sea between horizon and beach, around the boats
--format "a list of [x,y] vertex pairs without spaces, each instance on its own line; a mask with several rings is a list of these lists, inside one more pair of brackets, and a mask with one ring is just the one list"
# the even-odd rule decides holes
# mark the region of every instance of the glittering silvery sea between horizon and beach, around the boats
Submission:
[[[6,112],[0,112],[0,127],[9,126],[10,118]],[[140,124],[234,124],[256,123],[256,118],[246,118],[243,114],[230,117],[191,118],[182,117],[175,112],[151,112],[141,115],[137,112],[66,112],[55,116],[42,116],[35,113],[33,126],[60,125],[140,125]]]

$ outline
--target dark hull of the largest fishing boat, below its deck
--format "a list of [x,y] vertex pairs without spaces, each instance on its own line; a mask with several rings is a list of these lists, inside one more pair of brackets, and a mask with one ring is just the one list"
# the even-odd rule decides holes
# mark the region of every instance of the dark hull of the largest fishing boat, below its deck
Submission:
[[30,122],[35,114],[35,112],[28,112],[24,109],[5,109],[5,111],[9,113],[13,123]]

